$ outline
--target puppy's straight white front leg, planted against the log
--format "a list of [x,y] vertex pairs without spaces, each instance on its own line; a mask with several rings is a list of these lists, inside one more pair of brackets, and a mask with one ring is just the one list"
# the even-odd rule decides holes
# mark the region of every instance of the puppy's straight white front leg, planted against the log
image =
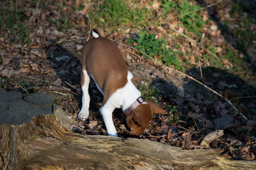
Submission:
[[115,128],[115,125],[113,123],[113,118],[112,118],[112,112],[114,110],[115,110],[115,107],[111,106],[111,104],[107,103],[107,104],[104,104],[104,106],[102,106],[100,108],[100,113],[101,113],[104,123],[106,125],[108,135],[117,137],[116,128]]

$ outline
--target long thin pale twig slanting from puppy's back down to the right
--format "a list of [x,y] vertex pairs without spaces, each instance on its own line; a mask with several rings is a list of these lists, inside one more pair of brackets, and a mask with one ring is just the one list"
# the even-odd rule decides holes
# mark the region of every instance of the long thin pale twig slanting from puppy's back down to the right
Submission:
[[[112,40],[113,40],[113,39],[112,39]],[[158,66],[164,67],[164,68],[167,70],[166,72],[167,72],[168,74],[170,74],[168,70],[171,69],[172,71],[175,71],[175,72],[177,72],[177,73],[180,73],[180,74],[182,74],[182,75],[188,77],[189,79],[191,79],[191,80],[193,80],[193,81],[196,81],[196,83],[199,83],[200,85],[204,86],[206,89],[210,90],[210,91],[213,92],[214,94],[216,94],[216,95],[220,96],[221,98],[223,98],[228,104],[230,104],[230,106],[232,106],[232,108],[234,108],[235,111],[237,111],[237,113],[239,113],[245,120],[248,120],[248,118],[246,118],[246,117],[243,115],[243,113],[241,113],[239,110],[237,110],[236,106],[234,106],[234,104],[232,104],[230,101],[228,101],[228,99],[227,99],[226,97],[224,97],[224,96],[222,96],[221,94],[219,94],[218,92],[212,90],[210,87],[208,87],[208,86],[205,85],[204,83],[202,83],[202,82],[196,80],[195,78],[189,76],[188,74],[182,73],[181,71],[179,71],[179,70],[177,70],[177,69],[173,69],[172,67],[168,67],[168,66],[165,66],[164,64],[161,64],[161,62],[157,61],[157,60],[154,59],[153,57],[150,57],[150,56],[147,55],[147,53],[145,53],[145,52],[141,52],[140,50],[138,50],[138,49],[136,49],[136,48],[133,48],[132,46],[125,45],[124,43],[121,43],[120,41],[116,41],[116,40],[113,40],[113,41],[118,42],[118,43],[120,43],[120,44],[122,44],[122,45],[124,45],[124,46],[128,46],[129,48],[132,48],[132,49],[134,49],[134,50],[137,50],[137,51],[140,52],[140,53],[143,53],[143,54],[146,55],[149,59],[151,59],[151,60],[153,60],[155,63],[157,63]]]

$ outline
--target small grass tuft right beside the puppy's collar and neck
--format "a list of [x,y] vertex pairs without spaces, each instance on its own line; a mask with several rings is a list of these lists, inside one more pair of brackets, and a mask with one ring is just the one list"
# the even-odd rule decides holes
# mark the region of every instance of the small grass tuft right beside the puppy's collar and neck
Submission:
[[155,101],[159,97],[156,86],[150,86],[148,81],[144,81],[143,84],[138,84],[138,90],[140,90],[141,96],[145,100]]

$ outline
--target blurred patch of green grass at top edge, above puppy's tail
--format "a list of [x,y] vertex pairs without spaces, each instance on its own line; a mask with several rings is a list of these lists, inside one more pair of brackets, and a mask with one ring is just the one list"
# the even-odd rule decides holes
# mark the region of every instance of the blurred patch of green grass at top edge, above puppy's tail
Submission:
[[138,8],[136,4],[128,5],[124,0],[101,1],[97,9],[90,11],[90,22],[94,21],[100,27],[131,24],[150,17],[147,8]]

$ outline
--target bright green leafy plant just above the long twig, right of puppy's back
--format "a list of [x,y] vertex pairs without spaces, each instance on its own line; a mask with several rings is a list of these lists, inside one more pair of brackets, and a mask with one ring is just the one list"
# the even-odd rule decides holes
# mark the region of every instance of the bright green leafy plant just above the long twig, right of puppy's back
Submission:
[[[127,39],[128,43],[135,43],[134,48],[137,48],[141,52],[147,53],[150,57],[156,57],[156,59],[164,61],[167,66],[173,64],[177,69],[180,69],[179,60],[176,59],[178,52],[168,50],[166,48],[166,41],[164,39],[157,39],[155,34],[148,34],[145,31],[139,32],[139,38]],[[142,54],[145,59],[148,59],[147,55]]]

